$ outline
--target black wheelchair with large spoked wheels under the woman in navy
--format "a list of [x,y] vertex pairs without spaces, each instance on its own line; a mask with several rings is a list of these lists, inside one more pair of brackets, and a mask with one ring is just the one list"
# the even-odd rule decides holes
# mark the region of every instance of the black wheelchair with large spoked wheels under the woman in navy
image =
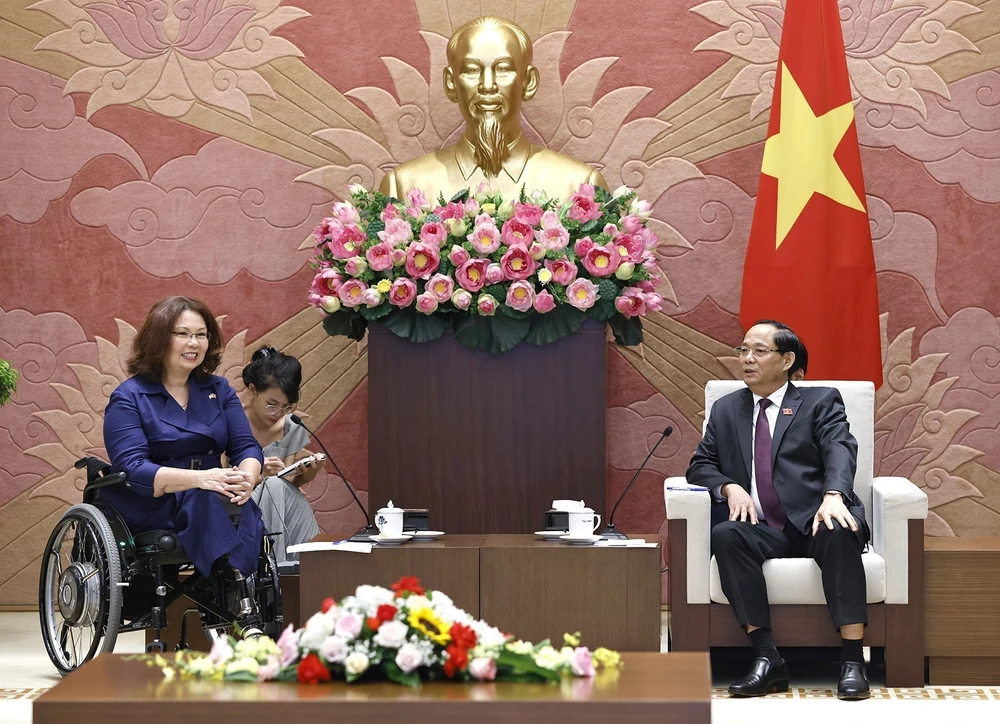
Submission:
[[188,648],[190,613],[198,613],[210,641],[238,619],[250,622],[244,635],[280,635],[273,534],[265,535],[251,576],[244,579],[224,567],[206,578],[195,570],[174,531],[133,536],[118,512],[97,498],[101,488],[124,483],[125,473],[112,473],[110,465],[93,457],[81,458],[76,467],[87,469],[83,503],[67,510],[49,536],[38,584],[42,640],[60,674],[113,651],[120,633],[152,629],[146,651],[163,651],[160,633],[167,626],[167,608],[181,596],[196,608],[184,611],[176,649]]

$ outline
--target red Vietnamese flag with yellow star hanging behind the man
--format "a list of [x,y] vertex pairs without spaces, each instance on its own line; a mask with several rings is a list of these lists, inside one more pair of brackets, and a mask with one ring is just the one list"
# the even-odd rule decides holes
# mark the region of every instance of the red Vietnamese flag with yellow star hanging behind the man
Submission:
[[878,288],[837,0],[790,0],[740,322],[777,319],[809,378],[882,384]]

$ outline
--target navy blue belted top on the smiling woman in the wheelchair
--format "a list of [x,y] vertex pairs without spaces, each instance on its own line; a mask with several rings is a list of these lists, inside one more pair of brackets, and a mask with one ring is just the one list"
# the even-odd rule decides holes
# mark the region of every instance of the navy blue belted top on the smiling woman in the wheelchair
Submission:
[[160,382],[130,377],[114,392],[104,412],[104,444],[116,471],[128,474],[133,493],[152,497],[161,467],[218,467],[222,453],[231,465],[247,458],[263,463],[246,413],[225,377],[190,378],[185,410]]

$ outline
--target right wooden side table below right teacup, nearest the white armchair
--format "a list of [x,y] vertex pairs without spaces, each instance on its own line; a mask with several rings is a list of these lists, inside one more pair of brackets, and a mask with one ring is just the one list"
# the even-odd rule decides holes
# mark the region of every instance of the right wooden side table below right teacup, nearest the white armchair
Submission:
[[[656,534],[632,536],[659,542]],[[660,548],[491,535],[479,549],[483,620],[526,641],[579,631],[591,648],[660,650]]]

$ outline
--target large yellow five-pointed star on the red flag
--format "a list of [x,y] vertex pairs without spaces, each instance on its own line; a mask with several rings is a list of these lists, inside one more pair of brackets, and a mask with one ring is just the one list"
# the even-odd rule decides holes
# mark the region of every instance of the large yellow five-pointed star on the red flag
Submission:
[[778,179],[774,248],[781,246],[813,192],[864,211],[854,187],[833,157],[854,121],[851,103],[813,113],[788,66],[781,64],[780,131],[764,144],[761,171]]

